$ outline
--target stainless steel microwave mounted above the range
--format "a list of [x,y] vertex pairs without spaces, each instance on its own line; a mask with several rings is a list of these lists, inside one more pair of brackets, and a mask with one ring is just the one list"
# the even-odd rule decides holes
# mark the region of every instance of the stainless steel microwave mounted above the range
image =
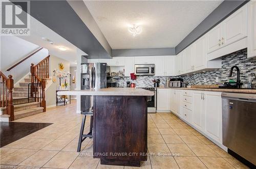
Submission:
[[155,75],[155,64],[136,64],[136,75]]

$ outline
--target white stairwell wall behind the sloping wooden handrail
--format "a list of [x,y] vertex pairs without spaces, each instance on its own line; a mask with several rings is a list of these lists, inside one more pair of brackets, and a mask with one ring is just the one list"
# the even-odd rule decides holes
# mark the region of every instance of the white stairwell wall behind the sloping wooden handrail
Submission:
[[3,71],[5,75],[11,74],[14,83],[17,82],[30,72],[31,63],[37,64],[48,56],[48,50],[45,48],[41,49],[11,71],[6,70],[26,58],[38,48],[38,45],[15,36],[1,36],[1,71]]

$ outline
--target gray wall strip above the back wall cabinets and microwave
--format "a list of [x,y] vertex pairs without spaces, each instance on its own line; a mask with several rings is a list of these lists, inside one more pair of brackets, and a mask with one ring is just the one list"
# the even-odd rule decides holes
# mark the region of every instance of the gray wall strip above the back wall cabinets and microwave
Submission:
[[175,48],[113,49],[113,57],[175,55]]

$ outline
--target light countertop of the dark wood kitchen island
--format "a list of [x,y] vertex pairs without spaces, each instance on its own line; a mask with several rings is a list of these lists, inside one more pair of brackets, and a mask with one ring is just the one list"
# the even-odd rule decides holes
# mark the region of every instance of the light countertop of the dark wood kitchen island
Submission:
[[154,92],[138,88],[105,88],[98,90],[59,91],[58,95],[87,96],[153,96]]

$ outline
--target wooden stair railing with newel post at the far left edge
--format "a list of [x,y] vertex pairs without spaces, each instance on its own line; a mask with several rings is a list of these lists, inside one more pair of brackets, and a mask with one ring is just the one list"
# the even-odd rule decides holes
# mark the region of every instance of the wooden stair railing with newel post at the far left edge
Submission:
[[13,79],[12,75],[8,78],[0,71],[0,107],[6,107],[6,114],[10,115],[9,121],[14,120],[14,106],[12,100]]

